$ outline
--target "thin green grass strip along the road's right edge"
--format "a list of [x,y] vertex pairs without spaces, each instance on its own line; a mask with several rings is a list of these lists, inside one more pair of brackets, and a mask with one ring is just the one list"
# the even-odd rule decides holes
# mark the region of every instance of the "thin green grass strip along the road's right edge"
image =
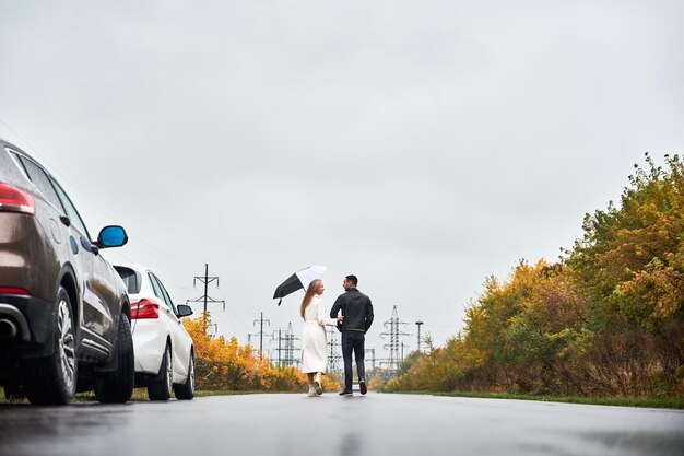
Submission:
[[450,397],[472,397],[482,399],[538,400],[543,402],[583,404],[589,406],[640,407],[653,409],[684,409],[684,398],[645,398],[645,397],[581,397],[581,396],[529,396],[510,393],[433,393],[400,391],[399,394],[432,395]]

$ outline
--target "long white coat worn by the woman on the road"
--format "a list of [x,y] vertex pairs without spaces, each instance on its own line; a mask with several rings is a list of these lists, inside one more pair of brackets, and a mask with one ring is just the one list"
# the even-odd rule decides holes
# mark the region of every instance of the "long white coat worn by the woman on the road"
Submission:
[[302,334],[302,372],[326,372],[328,366],[328,337],[326,325],[335,326],[337,318],[328,318],[329,309],[320,295],[311,299],[304,311],[304,332]]

